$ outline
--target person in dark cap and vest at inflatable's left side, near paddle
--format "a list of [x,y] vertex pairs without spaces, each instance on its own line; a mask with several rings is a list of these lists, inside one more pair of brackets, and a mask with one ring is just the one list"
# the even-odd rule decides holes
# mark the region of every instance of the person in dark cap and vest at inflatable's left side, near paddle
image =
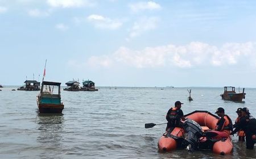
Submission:
[[166,120],[168,121],[166,131],[168,128],[182,127],[183,123],[181,122],[181,120],[184,121],[185,117],[183,111],[180,109],[181,104],[183,103],[181,103],[180,101],[176,101],[175,107],[168,110],[166,114]]

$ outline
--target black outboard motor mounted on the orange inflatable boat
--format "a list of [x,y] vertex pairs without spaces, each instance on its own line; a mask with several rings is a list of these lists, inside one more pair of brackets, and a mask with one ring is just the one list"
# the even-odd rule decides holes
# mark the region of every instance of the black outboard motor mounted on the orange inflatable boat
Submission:
[[187,147],[188,150],[197,149],[199,139],[203,136],[203,129],[201,126],[196,123],[194,120],[187,119],[183,124],[183,128],[185,129],[184,134],[184,147]]

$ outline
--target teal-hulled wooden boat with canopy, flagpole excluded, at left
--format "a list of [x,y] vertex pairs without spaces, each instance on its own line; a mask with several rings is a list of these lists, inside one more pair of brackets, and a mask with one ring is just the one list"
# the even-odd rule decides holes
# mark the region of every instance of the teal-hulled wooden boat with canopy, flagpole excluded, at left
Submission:
[[[42,82],[41,91],[37,97],[36,102],[38,103],[39,112],[53,112],[61,113],[64,105],[60,98],[60,84],[59,82]],[[54,91],[54,86],[58,89]]]

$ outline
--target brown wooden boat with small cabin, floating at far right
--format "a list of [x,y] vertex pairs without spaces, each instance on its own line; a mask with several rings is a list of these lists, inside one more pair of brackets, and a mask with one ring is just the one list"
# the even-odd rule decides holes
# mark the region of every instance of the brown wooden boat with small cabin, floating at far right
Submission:
[[225,86],[224,87],[224,93],[221,94],[221,98],[224,100],[229,101],[242,101],[242,99],[245,99],[245,88],[243,88],[242,93],[236,93],[235,87],[232,86]]

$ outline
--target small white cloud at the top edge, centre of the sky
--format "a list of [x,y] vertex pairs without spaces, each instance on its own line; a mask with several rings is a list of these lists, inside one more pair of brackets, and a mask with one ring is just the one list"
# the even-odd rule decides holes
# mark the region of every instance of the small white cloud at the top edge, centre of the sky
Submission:
[[129,5],[131,11],[138,12],[141,10],[158,10],[161,6],[158,3],[148,1],[148,2],[137,2]]

